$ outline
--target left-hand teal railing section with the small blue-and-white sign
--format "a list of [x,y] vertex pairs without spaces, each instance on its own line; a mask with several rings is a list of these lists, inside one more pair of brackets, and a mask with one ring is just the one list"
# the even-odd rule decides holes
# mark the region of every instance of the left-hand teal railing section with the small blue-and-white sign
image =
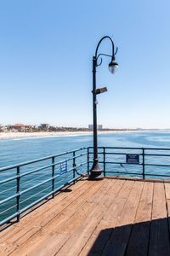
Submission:
[[76,181],[88,170],[87,148],[0,169],[0,225]]

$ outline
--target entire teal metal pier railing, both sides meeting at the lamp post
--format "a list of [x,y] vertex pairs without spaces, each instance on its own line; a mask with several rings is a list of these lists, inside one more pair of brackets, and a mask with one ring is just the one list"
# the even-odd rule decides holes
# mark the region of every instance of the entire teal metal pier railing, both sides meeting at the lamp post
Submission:
[[[93,147],[0,168],[0,225],[20,220],[41,201],[54,198],[66,184],[89,172]],[[105,175],[170,178],[170,148],[99,147]]]

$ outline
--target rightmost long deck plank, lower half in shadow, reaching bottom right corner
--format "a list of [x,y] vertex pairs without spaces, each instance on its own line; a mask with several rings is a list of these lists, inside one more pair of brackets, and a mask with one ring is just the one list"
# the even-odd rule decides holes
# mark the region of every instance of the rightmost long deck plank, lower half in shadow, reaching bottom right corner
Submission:
[[151,255],[170,255],[167,207],[163,183],[155,183],[154,187],[149,244],[149,256]]

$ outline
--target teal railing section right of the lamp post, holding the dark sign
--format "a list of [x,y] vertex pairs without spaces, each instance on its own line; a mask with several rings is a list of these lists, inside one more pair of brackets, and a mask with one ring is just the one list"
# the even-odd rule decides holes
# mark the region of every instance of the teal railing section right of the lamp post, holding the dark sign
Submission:
[[[170,148],[99,147],[98,150],[104,176],[170,177]],[[92,163],[93,147],[88,148],[88,154]]]

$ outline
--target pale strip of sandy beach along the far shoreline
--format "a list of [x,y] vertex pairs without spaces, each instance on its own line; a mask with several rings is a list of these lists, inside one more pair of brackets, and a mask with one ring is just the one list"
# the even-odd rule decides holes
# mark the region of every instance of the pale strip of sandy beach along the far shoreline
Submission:
[[[146,130],[144,130],[146,131]],[[98,131],[99,134],[107,133],[127,133],[127,132],[144,132],[144,131]],[[161,130],[160,130],[161,131]],[[153,132],[153,131],[150,131]],[[20,138],[20,137],[69,137],[92,135],[93,131],[39,131],[39,132],[0,132],[0,139]]]

